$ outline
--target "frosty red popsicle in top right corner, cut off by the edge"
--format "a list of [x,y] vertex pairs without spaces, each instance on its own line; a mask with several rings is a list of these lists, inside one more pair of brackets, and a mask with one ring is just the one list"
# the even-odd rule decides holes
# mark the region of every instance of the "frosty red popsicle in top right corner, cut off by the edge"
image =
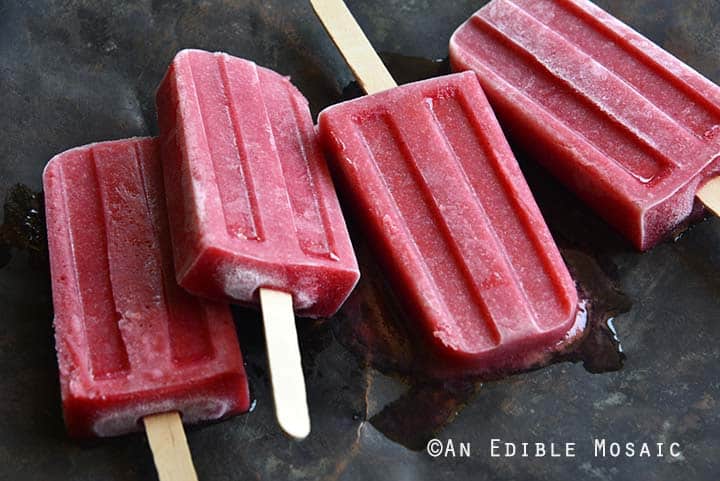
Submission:
[[591,2],[493,0],[454,33],[450,60],[477,73],[510,138],[636,248],[703,203],[720,210],[720,88]]

